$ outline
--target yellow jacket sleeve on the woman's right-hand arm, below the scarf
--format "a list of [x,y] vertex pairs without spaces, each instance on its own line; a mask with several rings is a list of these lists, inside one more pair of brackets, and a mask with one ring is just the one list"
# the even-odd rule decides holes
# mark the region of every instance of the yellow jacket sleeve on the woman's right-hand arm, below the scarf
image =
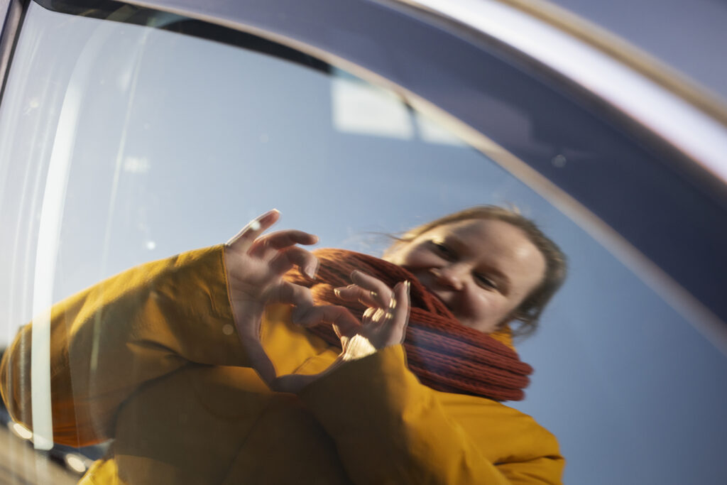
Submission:
[[301,398],[356,484],[561,483],[547,430],[497,402],[420,384],[401,345],[340,366]]

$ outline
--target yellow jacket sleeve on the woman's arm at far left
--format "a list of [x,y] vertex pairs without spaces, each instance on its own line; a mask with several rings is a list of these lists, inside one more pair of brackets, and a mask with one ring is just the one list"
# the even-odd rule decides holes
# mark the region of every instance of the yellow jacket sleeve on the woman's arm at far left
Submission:
[[[51,310],[54,441],[82,446],[111,437],[116,412],[145,382],[188,362],[244,366],[230,310],[222,246],[124,271]],[[32,428],[31,325],[0,366],[15,420]]]

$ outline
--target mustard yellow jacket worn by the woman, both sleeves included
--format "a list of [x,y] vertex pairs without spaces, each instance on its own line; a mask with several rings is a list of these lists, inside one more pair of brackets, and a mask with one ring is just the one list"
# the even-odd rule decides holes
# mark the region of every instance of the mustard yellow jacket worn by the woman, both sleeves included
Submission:
[[[52,308],[54,440],[113,438],[84,484],[558,484],[555,437],[485,398],[442,393],[401,345],[349,362],[300,396],[273,393],[234,328],[221,246],[132,268]],[[270,307],[278,375],[337,356]],[[32,427],[30,325],[0,367],[2,396]]]

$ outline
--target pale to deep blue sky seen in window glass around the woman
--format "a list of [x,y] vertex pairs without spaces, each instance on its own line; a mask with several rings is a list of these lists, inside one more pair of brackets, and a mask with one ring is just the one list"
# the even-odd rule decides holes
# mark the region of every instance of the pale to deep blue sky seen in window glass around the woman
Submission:
[[571,267],[518,344],[536,374],[514,404],[558,437],[566,483],[710,483],[725,466],[724,356],[497,164],[321,65],[31,4],[0,109],[0,344],[50,302],[272,207],[280,228],[377,255],[381,233],[514,204]]

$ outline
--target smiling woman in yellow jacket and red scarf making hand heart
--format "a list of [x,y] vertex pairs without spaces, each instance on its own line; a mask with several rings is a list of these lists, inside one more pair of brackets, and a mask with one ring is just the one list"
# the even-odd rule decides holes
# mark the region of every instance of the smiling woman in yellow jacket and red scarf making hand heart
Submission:
[[[316,257],[297,246],[316,236],[260,236],[278,217],[53,308],[55,441],[114,438],[84,481],[560,482],[555,438],[499,403],[529,373],[507,325],[533,326],[563,280],[550,240],[483,207],[410,231],[388,262]],[[29,340],[1,372],[27,425]]]

